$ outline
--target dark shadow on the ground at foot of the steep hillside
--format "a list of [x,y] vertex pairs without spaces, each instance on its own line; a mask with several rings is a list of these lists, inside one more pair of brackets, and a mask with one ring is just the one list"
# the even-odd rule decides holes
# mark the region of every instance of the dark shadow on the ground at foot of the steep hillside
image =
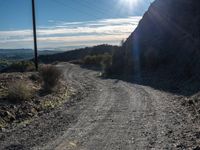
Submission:
[[191,96],[200,91],[200,80],[197,78],[183,79],[180,77],[171,78],[158,74],[143,73],[140,76],[114,75],[102,79],[117,79],[138,85],[150,86],[154,89],[170,92],[182,96]]

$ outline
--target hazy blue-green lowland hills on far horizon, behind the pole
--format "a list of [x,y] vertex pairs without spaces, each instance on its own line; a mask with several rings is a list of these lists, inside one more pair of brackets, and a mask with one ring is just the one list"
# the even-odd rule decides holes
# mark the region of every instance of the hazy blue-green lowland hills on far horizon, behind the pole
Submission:
[[[43,50],[38,51],[39,55],[49,55],[59,53],[59,51]],[[2,60],[26,60],[34,57],[32,49],[0,49],[0,59]]]

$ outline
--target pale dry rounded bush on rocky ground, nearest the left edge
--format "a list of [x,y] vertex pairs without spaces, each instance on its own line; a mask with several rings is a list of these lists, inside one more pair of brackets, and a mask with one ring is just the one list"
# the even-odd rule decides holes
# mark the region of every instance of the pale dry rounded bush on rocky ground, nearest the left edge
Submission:
[[26,82],[15,82],[8,87],[8,99],[13,102],[28,101],[33,97],[33,89]]

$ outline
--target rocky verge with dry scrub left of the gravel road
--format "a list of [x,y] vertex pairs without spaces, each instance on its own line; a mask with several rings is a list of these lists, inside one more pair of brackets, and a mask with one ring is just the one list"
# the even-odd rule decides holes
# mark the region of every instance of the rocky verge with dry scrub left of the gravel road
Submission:
[[[51,76],[52,71],[47,70],[43,73]],[[37,72],[0,74],[0,130],[13,122],[29,121],[39,112],[49,111],[69,100],[71,89],[65,80],[57,80],[56,92],[44,94],[41,94],[44,86],[41,81]]]

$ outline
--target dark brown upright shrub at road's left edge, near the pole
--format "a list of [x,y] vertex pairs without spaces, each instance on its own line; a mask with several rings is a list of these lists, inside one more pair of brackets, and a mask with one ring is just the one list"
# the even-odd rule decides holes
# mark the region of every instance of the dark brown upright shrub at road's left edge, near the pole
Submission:
[[62,71],[53,65],[41,67],[39,74],[43,81],[43,89],[46,92],[52,92],[59,85],[60,78],[62,77]]

